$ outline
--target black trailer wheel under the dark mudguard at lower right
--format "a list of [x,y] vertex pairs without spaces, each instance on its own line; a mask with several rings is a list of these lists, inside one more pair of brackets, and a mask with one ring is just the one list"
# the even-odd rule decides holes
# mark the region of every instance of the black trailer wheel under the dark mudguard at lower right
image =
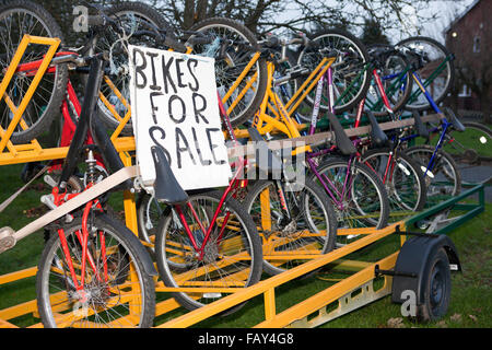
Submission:
[[444,316],[449,305],[450,269],[444,248],[429,256],[424,271],[424,298],[417,306],[417,320],[433,322]]

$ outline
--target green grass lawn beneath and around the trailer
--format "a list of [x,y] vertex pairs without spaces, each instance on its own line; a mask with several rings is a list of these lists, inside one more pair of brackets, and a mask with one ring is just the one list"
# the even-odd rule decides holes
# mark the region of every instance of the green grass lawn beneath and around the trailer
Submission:
[[[2,166],[0,174],[0,201],[7,199],[16,188],[22,186],[20,172],[22,165]],[[40,185],[21,195],[0,215],[0,226],[20,229],[37,218],[44,206],[39,197],[47,194],[46,187]],[[121,197],[115,196],[113,202],[117,203]],[[116,208],[120,210],[119,208]],[[492,203],[488,203],[485,212],[461,225],[449,234],[455,243],[462,264],[462,273],[453,273],[452,300],[447,315],[444,319],[417,325],[402,319],[400,305],[391,304],[390,296],[386,296],[365,307],[354,311],[321,327],[492,327]],[[17,245],[0,255],[0,275],[36,266],[43,249],[43,232],[37,232]],[[373,249],[354,253],[352,257],[372,261],[384,257],[398,248],[398,238],[389,237],[378,242]],[[327,280],[327,277],[330,280]],[[344,275],[329,276],[320,270],[317,275],[293,281],[276,290],[277,312],[305,300],[317,291],[321,291]],[[168,294],[159,293],[159,300],[167,299]],[[0,285],[0,310],[35,299],[35,278],[27,278],[19,282]],[[156,318],[159,324],[183,314],[178,310]],[[197,325],[197,327],[249,327],[263,320],[262,296],[249,301],[237,313],[226,317],[213,317]],[[14,319],[20,326],[37,323],[31,315]]]

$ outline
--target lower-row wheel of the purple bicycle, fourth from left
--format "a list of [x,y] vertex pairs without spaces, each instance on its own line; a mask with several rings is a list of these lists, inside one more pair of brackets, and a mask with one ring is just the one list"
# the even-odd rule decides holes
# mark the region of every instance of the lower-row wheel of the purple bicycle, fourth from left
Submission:
[[[338,182],[340,185],[343,185],[344,177],[347,174],[347,167],[348,167],[348,159],[333,156],[330,159],[327,159],[326,161],[323,161],[318,167],[317,172],[320,175],[324,175],[328,171],[335,171],[335,177],[332,178],[332,183]],[[354,195],[358,195],[356,199],[353,200],[352,198],[347,199],[342,198],[340,202],[343,205],[343,207],[338,206],[337,202],[333,201],[333,198],[330,197],[330,200],[332,201],[335,211],[337,213],[337,220],[339,223],[339,229],[347,228],[366,228],[366,226],[374,226],[376,229],[383,229],[386,228],[388,224],[388,218],[389,218],[389,200],[388,195],[386,192],[386,189],[377,175],[376,172],[372,171],[367,165],[356,162],[355,164],[352,164],[354,167],[355,174],[362,174],[363,177],[360,179],[353,179],[353,184],[362,184],[367,183],[371,185],[372,188],[371,191],[365,190],[364,192],[361,192],[359,190],[358,194],[354,192],[354,187],[351,187],[350,195],[353,197]],[[338,170],[338,171],[337,171]],[[344,176],[343,178],[337,175],[336,173],[339,173],[339,175]],[[337,179],[338,178],[338,179]],[[309,179],[316,182],[316,184],[319,182],[319,179],[316,177],[315,174],[309,175]],[[367,182],[368,180],[368,182]],[[376,197],[371,198],[371,194],[375,191]],[[341,190],[339,190],[341,192]],[[347,192],[348,194],[348,192]],[[339,200],[339,198],[337,198]],[[358,200],[361,202],[359,203]],[[364,205],[363,201],[366,201],[365,205],[367,205],[366,209],[364,209],[362,206]],[[343,203],[345,201],[347,203]],[[345,210],[345,206],[349,206],[353,203],[354,208],[354,214],[351,214],[348,209]],[[373,206],[377,206],[374,210],[372,210]],[[371,210],[371,211],[370,211]],[[376,218],[377,220],[372,219],[372,217]],[[349,222],[347,222],[349,221]],[[342,240],[338,240],[342,241]]]

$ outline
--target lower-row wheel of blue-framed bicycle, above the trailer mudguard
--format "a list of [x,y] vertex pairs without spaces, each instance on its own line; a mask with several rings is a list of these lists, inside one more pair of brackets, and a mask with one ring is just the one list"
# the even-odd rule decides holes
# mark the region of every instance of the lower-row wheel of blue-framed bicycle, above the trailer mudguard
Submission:
[[[405,150],[424,173],[429,206],[456,196],[461,190],[461,175],[453,158],[442,149],[435,155],[434,151],[435,147],[429,144],[413,145]],[[432,159],[433,164],[427,170]]]

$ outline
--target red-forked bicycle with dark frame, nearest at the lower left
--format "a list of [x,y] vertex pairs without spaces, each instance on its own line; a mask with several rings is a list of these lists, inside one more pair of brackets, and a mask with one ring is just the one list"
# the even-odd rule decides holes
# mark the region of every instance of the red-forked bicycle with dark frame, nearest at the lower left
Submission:
[[[94,151],[97,149],[114,171],[124,167],[118,153],[101,128],[94,127],[94,107],[103,78],[102,54],[70,56],[65,62],[89,63],[89,80],[81,115],[63,163],[58,185],[43,202],[56,211],[97,185]],[[61,63],[61,62],[57,62]],[[84,144],[91,130],[94,144]],[[68,192],[68,182],[86,154],[84,191]],[[125,186],[131,186],[128,180]],[[128,188],[128,187],[127,187]],[[36,277],[38,311],[45,327],[108,326],[150,327],[155,313],[153,276],[149,254],[137,236],[103,210],[104,197],[50,222]],[[102,313],[104,311],[104,313]]]

